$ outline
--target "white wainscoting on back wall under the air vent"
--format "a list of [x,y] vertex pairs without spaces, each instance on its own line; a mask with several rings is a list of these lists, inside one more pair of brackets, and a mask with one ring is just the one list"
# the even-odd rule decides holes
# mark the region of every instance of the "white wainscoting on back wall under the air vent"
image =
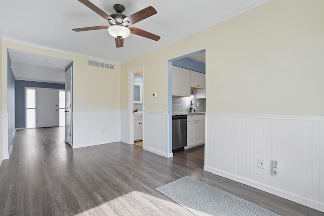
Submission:
[[120,141],[120,110],[73,112],[73,148]]

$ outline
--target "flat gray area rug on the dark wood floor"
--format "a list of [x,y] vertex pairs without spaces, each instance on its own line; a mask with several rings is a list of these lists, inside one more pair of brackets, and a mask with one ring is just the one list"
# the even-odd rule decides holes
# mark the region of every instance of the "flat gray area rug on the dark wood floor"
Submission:
[[278,215],[189,176],[156,189],[196,215]]

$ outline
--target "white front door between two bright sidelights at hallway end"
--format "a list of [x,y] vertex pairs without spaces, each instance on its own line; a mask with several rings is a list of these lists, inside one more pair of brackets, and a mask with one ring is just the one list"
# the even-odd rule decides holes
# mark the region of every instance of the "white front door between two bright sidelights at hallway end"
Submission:
[[37,89],[36,127],[59,126],[59,90]]

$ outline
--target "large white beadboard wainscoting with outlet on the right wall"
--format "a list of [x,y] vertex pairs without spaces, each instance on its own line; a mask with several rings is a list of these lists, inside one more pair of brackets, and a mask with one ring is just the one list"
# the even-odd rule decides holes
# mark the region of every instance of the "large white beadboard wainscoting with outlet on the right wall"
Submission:
[[324,116],[206,114],[205,128],[204,170],[324,211]]

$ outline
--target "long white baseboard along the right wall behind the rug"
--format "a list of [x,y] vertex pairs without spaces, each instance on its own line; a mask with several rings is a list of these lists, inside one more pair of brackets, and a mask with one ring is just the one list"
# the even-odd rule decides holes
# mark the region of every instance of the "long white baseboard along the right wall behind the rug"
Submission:
[[237,176],[237,175],[233,175],[233,174],[230,174],[229,172],[225,172],[225,171],[222,171],[222,170],[219,170],[219,169],[215,169],[215,168],[212,168],[210,166],[204,166],[204,170],[208,171],[208,172],[211,172],[213,174],[216,174],[218,176],[225,177],[227,179],[230,179],[230,180],[233,180],[233,181],[236,181],[236,182],[239,182],[239,183],[242,183],[242,184],[257,188],[257,189],[260,189],[262,191],[277,195],[279,197],[282,197],[282,198],[291,200],[293,202],[297,202],[299,204],[305,205],[307,207],[316,209],[318,211],[324,212],[324,206],[321,203],[319,203],[319,202],[317,202],[315,200],[307,199],[305,197],[298,196],[296,194],[292,194],[292,193],[289,193],[287,191],[280,190],[278,188],[274,188],[274,187],[271,187],[271,186],[268,186],[268,185],[265,185],[265,184],[262,184],[260,182],[256,182],[256,181],[253,181],[253,180],[250,180],[250,179],[247,179],[247,178],[243,178],[243,177],[240,177],[240,176]]

